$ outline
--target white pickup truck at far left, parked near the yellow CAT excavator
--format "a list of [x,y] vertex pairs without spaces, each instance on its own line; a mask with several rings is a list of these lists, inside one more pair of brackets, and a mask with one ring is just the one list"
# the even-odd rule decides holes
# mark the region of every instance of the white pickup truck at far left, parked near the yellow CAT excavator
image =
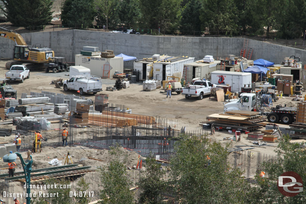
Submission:
[[25,78],[30,78],[30,71],[24,65],[13,65],[8,72],[5,73],[5,78],[9,81],[21,81]]

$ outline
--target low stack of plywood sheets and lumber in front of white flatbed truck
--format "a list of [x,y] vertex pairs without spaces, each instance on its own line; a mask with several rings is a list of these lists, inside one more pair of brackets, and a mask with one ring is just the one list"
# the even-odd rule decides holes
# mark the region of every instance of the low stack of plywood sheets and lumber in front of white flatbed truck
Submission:
[[215,127],[238,129],[243,131],[253,131],[262,128],[262,122],[266,121],[265,116],[257,115],[252,111],[227,111],[225,113],[215,113],[207,116],[209,124]]

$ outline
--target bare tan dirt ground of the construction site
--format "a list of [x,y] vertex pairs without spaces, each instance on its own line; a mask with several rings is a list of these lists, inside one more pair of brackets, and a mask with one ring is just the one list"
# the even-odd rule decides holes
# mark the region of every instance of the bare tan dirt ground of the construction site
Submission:
[[[0,78],[5,78],[5,72],[8,70],[5,68],[6,60],[0,60]],[[53,84],[50,84],[52,80],[56,80],[59,78],[68,79],[69,76],[65,76],[67,72],[60,73],[45,73],[44,71],[31,71],[30,79],[25,79],[23,83],[13,82],[11,85],[14,89],[17,90],[17,98],[21,97],[22,93],[27,93],[30,95],[30,92],[41,92],[41,91],[50,91],[55,93],[64,93],[64,94],[75,94],[78,93],[76,91],[65,92],[63,89],[55,88]],[[105,83],[114,83],[114,80],[104,80]],[[184,95],[174,93],[171,98],[166,98],[166,93],[161,89],[157,89],[156,91],[143,91],[142,83],[130,84],[130,87],[127,89],[122,89],[120,91],[104,91],[106,90],[106,86],[110,86],[110,84],[103,84],[103,91],[99,93],[108,94],[109,102],[114,104],[122,104],[125,105],[125,108],[132,109],[133,114],[141,114],[147,116],[155,116],[161,118],[167,118],[169,120],[176,121],[175,129],[181,129],[182,127],[186,127],[187,131],[198,131],[199,133],[202,130],[202,127],[199,125],[201,122],[206,121],[206,117],[213,113],[221,113],[223,110],[223,102],[217,102],[216,100],[210,100],[209,97],[203,98],[203,100],[198,100],[197,98],[185,99]],[[95,99],[95,95],[87,94],[84,95],[86,98]],[[279,99],[278,102],[273,102],[273,105],[276,106],[278,104],[284,104],[286,102],[292,102],[292,98],[282,98]],[[13,125],[2,125],[1,128],[12,128]],[[220,142],[222,145],[231,142],[230,140],[223,140],[223,137],[232,137],[234,134],[226,131],[218,132],[216,131],[214,135],[209,135],[210,141]],[[230,148],[236,145],[252,145],[251,140],[247,140],[246,134],[241,134],[241,142],[233,141],[230,145]],[[7,142],[13,143],[14,135],[9,137],[0,138],[0,143]],[[267,147],[255,147],[251,151],[253,153],[261,152],[267,155],[275,155],[275,148],[278,143],[268,143],[272,144],[272,146]],[[33,169],[39,168],[48,168],[50,165],[48,161],[53,158],[65,158],[67,151],[70,150],[72,154],[72,158],[75,162],[79,161],[81,158],[87,158],[91,156],[93,158],[98,158],[103,161],[91,161],[87,159],[84,162],[84,165],[105,165],[110,159],[107,153],[107,150],[96,150],[85,148],[82,149],[80,147],[57,147],[54,149],[53,147],[43,147],[42,153],[33,154]],[[126,152],[129,157],[128,165],[135,165],[137,162],[138,154],[136,152]],[[26,153],[22,153],[23,157],[26,158]],[[233,163],[233,153],[229,154],[229,163]],[[62,159],[64,162],[65,159]],[[252,160],[256,162],[256,156]],[[7,167],[7,163],[4,163],[0,160],[0,168]],[[17,171],[21,170],[21,165],[18,166]],[[1,170],[0,173],[7,173],[7,169]],[[253,175],[255,171],[251,172]],[[20,183],[16,183],[18,185]]]

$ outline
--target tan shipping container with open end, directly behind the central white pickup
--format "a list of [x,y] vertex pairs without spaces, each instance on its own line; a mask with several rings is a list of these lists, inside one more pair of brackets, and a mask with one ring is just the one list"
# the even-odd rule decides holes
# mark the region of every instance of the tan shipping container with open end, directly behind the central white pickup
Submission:
[[192,81],[194,78],[199,79],[210,79],[211,72],[217,70],[217,64],[220,61],[215,60],[212,63],[203,63],[203,62],[192,62],[184,65],[184,69],[186,70],[186,83]]

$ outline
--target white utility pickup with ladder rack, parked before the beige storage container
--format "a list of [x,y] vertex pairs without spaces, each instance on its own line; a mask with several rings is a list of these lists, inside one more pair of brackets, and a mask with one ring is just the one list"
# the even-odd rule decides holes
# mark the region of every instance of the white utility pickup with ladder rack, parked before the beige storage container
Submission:
[[80,95],[91,92],[96,94],[98,91],[102,91],[101,78],[91,75],[72,76],[63,82],[63,86],[65,91],[69,91],[69,89],[80,91]]

